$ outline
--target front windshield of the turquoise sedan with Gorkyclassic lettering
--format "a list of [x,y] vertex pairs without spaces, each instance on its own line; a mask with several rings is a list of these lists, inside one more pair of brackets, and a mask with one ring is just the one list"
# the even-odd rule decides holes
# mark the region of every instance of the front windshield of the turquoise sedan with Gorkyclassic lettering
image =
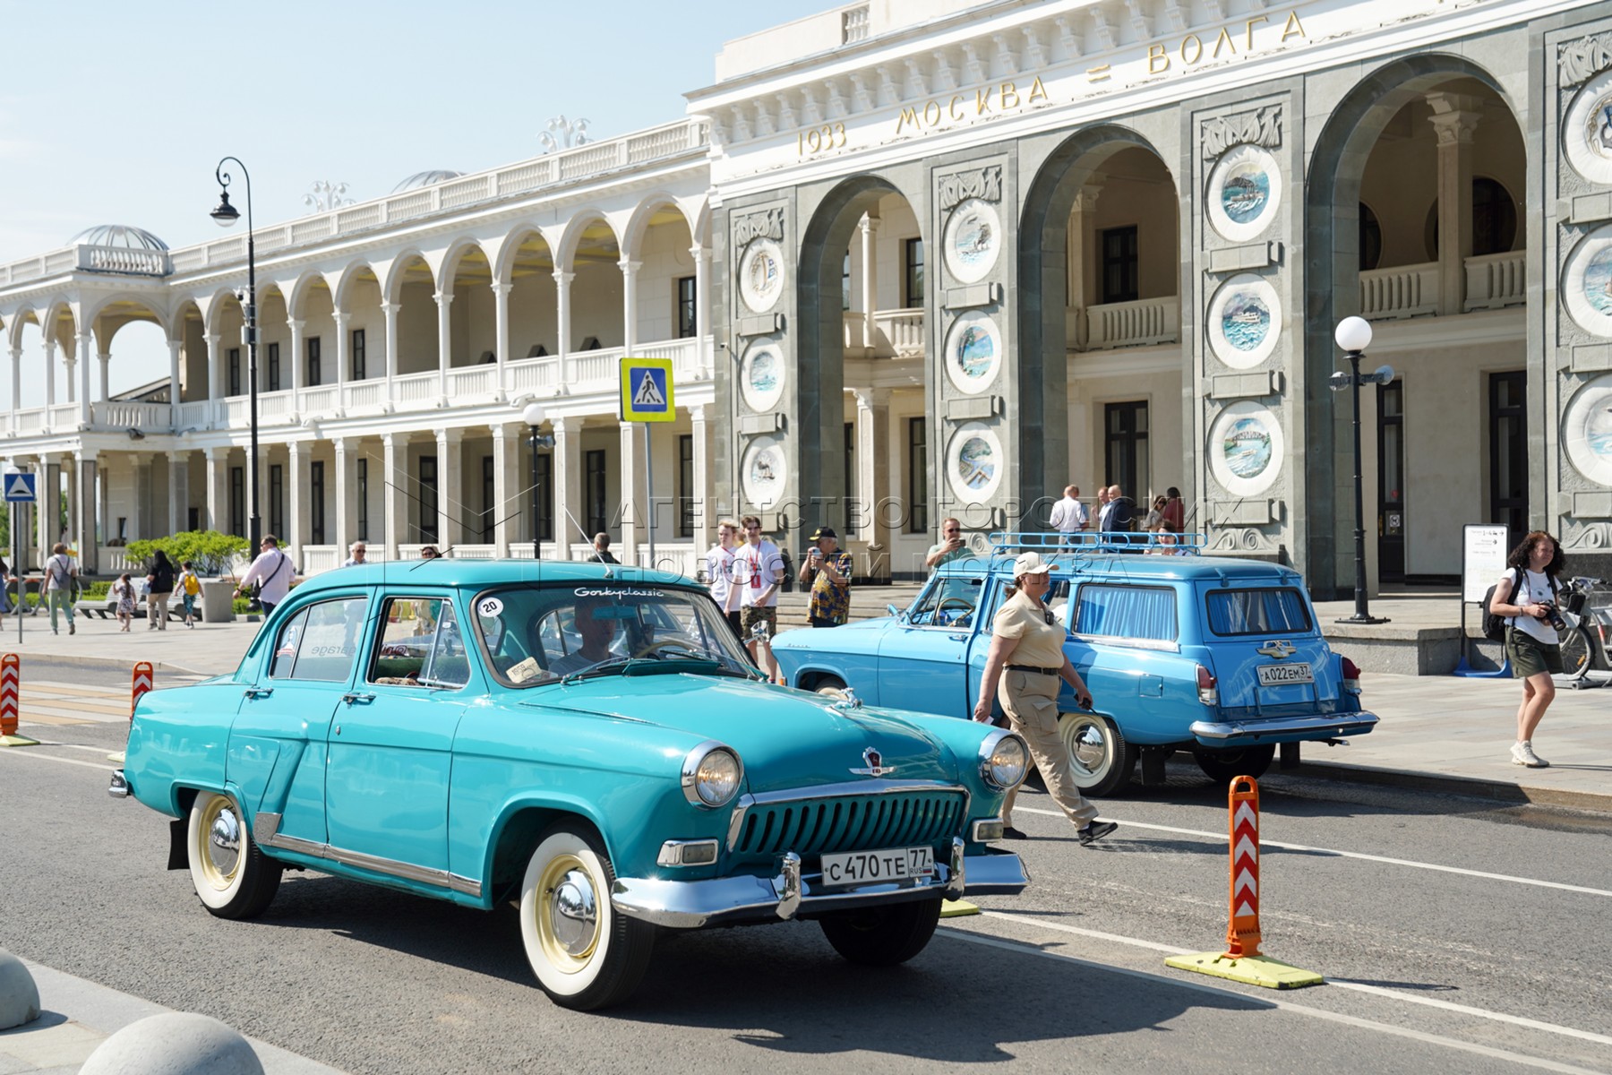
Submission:
[[476,629],[488,666],[508,687],[653,670],[645,662],[659,661],[754,675],[711,598],[672,587],[585,582],[488,590],[476,598]]

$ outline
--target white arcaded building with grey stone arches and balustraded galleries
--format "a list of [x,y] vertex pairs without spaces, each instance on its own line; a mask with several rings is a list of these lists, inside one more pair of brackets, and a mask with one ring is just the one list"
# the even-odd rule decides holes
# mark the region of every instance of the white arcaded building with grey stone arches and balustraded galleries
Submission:
[[[1612,572],[1612,5],[874,0],[729,42],[687,111],[258,232],[260,496],[305,571],[534,530],[642,561],[651,513],[693,569],[758,511],[911,577],[943,516],[1032,529],[1074,482],[1178,487],[1330,596],[1359,314],[1396,371],[1362,392],[1372,580],[1456,575],[1467,522]],[[0,268],[13,387],[47,385],[0,454],[100,571],[242,532],[243,258],[123,230]],[[161,401],[106,400],[131,319]],[[675,363],[653,490],[624,355]]]

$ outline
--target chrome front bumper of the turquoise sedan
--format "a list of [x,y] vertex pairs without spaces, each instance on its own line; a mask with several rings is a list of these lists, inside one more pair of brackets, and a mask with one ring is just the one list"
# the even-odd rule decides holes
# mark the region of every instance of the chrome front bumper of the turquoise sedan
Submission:
[[740,922],[777,922],[912,899],[961,899],[1012,896],[1030,877],[1017,854],[1008,851],[964,854],[953,841],[951,862],[937,862],[930,880],[882,882],[853,888],[824,888],[821,874],[803,874],[801,857],[785,853],[777,877],[717,877],[679,882],[653,877],[621,877],[611,890],[611,906],[621,914],[682,930]]

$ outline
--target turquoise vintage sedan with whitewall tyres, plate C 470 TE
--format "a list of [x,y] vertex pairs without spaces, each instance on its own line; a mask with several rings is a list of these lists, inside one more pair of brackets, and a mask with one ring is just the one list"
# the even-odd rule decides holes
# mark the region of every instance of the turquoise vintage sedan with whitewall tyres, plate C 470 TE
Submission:
[[704,588],[450,559],[298,587],[234,675],[145,695],[113,796],[174,817],[208,911],[311,867],[519,901],[543,990],[625,998],[656,927],[816,919],[895,964],[943,898],[1017,893],[1016,735],[761,680]]

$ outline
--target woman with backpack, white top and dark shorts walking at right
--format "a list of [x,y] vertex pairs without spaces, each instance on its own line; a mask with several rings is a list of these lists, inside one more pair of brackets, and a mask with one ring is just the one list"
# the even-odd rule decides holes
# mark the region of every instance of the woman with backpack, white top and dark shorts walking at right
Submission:
[[1489,611],[1507,617],[1506,658],[1512,675],[1522,680],[1512,764],[1544,769],[1551,762],[1533,753],[1533,732],[1556,701],[1551,674],[1562,670],[1562,648],[1551,621],[1560,616],[1556,611],[1556,579],[1567,566],[1567,558],[1560,542],[1544,530],[1535,530],[1510,551],[1506,564],[1510,571],[1494,583]]

